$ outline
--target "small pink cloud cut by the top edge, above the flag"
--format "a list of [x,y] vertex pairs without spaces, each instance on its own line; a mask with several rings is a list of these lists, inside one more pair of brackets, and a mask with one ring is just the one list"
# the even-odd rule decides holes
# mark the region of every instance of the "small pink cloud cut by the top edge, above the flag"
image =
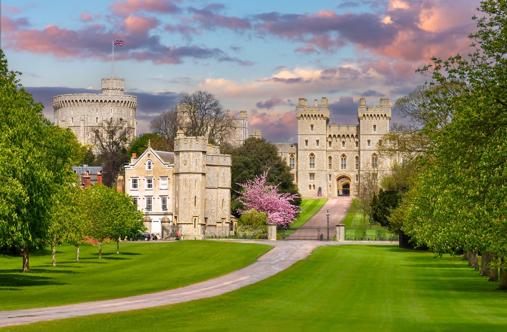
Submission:
[[160,14],[178,14],[181,9],[174,3],[180,1],[171,0],[118,0],[108,6],[113,14],[118,16],[128,16],[139,12],[152,12]]

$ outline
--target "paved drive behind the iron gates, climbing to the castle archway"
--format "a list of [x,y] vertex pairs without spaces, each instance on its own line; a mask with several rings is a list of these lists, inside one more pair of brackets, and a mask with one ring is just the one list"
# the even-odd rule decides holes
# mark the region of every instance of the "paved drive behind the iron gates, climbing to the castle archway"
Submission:
[[[326,197],[319,197],[326,198]],[[304,226],[328,226],[328,219],[325,217],[325,213],[329,210],[329,227],[335,228],[336,224],[340,224],[345,219],[350,205],[352,205],[352,197],[341,196],[341,197],[327,197],[328,200],[324,205],[315,213],[310,220],[308,220]]]

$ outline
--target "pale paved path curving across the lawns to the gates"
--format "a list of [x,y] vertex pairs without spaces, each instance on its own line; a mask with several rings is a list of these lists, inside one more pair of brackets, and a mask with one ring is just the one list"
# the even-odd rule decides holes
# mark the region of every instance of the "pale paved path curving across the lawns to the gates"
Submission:
[[0,327],[44,320],[111,313],[209,298],[264,280],[304,260],[318,246],[337,245],[321,241],[248,241],[274,245],[257,262],[228,275],[182,288],[129,298],[73,304],[60,307],[0,311]]

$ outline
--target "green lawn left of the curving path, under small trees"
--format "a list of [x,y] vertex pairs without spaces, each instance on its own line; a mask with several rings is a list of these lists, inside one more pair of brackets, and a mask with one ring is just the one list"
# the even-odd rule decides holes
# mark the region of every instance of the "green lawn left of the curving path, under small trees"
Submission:
[[186,286],[241,269],[271,246],[218,241],[126,242],[98,247],[57,247],[30,255],[31,272],[20,272],[21,257],[0,255],[0,310],[47,307],[117,299]]

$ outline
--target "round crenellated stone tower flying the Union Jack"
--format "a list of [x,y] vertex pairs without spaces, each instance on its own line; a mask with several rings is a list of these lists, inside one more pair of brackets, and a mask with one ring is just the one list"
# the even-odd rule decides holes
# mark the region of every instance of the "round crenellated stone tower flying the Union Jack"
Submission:
[[102,79],[102,93],[64,94],[53,97],[54,124],[70,128],[83,145],[93,145],[95,130],[107,120],[121,121],[129,129],[128,139],[137,135],[137,97],[123,94],[125,80]]

